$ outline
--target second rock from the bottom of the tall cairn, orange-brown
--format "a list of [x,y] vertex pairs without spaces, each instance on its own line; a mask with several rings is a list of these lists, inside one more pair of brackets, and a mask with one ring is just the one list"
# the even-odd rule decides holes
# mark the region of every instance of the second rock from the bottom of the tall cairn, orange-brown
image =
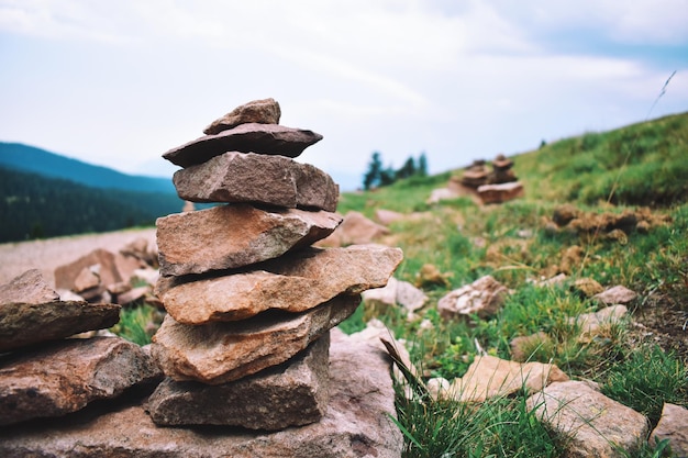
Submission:
[[165,317],[151,347],[177,381],[226,383],[279,365],[351,316],[360,295],[340,295],[299,314],[263,313],[233,323],[186,325]]

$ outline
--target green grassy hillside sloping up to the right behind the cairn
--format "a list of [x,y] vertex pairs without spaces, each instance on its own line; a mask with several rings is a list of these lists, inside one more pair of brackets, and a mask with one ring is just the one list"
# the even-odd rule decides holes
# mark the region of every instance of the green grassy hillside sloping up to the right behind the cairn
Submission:
[[[381,320],[406,340],[420,386],[432,377],[464,376],[485,353],[515,359],[512,339],[537,335],[519,360],[552,361],[574,380],[596,381],[607,396],[656,425],[665,402],[688,406],[687,135],[688,113],[521,154],[514,170],[525,196],[500,205],[479,205],[469,196],[429,204],[431,191],[462,170],[345,193],[341,213],[409,215],[381,242],[403,249],[395,277],[417,284],[429,301],[413,316],[399,308],[362,306],[341,327],[351,333]],[[576,223],[556,224],[565,214],[576,215]],[[423,273],[432,269],[439,275]],[[558,284],[536,284],[561,273]],[[510,290],[495,315],[440,316],[441,298],[486,275]],[[590,339],[579,338],[572,319],[603,305],[581,280],[637,293],[624,319]],[[127,316],[124,329],[127,321],[141,321]],[[462,404],[422,390],[408,399],[408,387],[397,388],[406,458],[565,456],[566,436],[526,407],[525,390]],[[666,444],[641,439],[629,456],[670,456]]]

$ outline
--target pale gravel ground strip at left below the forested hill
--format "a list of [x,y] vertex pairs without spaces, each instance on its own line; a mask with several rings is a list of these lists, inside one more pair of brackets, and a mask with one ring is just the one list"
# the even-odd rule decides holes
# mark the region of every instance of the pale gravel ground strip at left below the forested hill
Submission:
[[155,244],[155,228],[0,244],[0,284],[29,269],[40,269],[46,282],[54,287],[56,267],[75,261],[97,248],[115,253],[140,237]]

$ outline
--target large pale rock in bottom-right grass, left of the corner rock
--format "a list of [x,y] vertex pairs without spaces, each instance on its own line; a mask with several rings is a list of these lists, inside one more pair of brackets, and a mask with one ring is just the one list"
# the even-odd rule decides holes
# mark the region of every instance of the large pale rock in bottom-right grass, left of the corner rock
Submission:
[[526,404],[548,427],[569,436],[564,440],[566,457],[634,456],[647,437],[645,416],[586,382],[552,383],[529,398]]

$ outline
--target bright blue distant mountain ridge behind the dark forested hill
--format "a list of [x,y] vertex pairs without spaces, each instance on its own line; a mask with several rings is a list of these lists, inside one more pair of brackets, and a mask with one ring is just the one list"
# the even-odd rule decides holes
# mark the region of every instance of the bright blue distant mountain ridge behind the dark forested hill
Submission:
[[60,178],[92,188],[176,194],[171,177],[121,174],[20,143],[0,142],[0,167]]

